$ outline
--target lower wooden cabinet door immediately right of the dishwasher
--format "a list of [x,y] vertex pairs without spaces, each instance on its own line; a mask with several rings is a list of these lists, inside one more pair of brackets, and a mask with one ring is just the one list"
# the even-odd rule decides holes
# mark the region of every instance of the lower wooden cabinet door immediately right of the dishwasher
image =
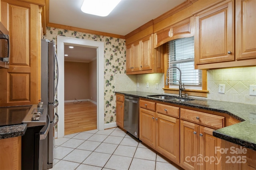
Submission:
[[156,113],[140,108],[140,140],[156,148]]

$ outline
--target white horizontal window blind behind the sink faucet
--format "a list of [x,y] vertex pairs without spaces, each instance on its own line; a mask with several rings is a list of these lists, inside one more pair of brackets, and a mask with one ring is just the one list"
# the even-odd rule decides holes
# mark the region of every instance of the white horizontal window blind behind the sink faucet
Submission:
[[[187,87],[202,86],[202,71],[194,69],[194,37],[181,38],[168,42],[168,67],[179,67],[182,72],[182,84]],[[168,71],[169,85],[178,85],[180,72],[176,68]]]

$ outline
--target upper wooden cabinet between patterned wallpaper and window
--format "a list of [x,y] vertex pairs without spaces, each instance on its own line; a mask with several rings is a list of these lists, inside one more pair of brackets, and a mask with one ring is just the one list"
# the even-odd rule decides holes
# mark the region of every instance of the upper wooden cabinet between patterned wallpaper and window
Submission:
[[153,47],[153,20],[127,34],[125,39],[126,74],[163,73],[163,48]]

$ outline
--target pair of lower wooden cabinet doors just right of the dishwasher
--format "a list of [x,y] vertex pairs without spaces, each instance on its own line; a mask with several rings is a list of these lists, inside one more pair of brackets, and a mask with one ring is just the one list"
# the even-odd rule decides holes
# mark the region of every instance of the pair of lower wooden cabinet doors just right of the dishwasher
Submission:
[[140,140],[173,162],[180,161],[180,120],[140,108]]

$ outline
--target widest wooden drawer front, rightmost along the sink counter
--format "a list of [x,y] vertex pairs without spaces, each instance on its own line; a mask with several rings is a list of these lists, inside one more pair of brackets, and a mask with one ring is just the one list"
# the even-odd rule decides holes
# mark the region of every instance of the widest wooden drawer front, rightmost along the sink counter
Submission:
[[222,128],[225,123],[225,117],[187,109],[180,109],[180,118],[213,128]]

